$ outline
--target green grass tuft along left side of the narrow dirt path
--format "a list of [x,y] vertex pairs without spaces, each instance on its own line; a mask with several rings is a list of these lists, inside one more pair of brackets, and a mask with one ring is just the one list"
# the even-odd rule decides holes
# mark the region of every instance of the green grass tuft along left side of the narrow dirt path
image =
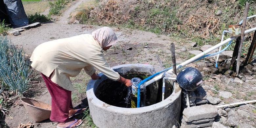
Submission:
[[50,4],[50,11],[49,15],[58,15],[60,14],[60,11],[65,7],[67,3],[69,3],[70,0],[56,0],[54,2],[49,2]]

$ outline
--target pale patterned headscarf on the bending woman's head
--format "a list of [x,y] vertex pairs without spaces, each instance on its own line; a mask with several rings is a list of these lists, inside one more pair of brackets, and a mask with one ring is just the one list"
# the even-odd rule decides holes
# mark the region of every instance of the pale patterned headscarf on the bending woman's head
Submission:
[[92,32],[92,35],[99,41],[101,48],[113,45],[118,41],[115,32],[109,27],[97,29]]

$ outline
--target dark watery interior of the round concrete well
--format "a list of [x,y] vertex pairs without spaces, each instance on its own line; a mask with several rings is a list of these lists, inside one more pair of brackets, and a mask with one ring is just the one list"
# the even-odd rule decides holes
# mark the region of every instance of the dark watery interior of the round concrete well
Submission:
[[[139,74],[139,73],[127,73],[122,75],[125,78],[132,79],[134,77],[139,77],[140,79],[145,79],[151,74]],[[159,88],[159,82],[155,82],[147,87],[142,87],[140,90],[140,106],[149,106],[160,102],[161,96],[161,86]],[[161,82],[160,82],[161,83]],[[167,88],[168,89],[168,88]],[[160,90],[160,93],[159,93]],[[169,90],[172,90],[170,86]],[[166,91],[168,92],[168,91]],[[170,96],[170,93],[166,96]],[[123,108],[136,108],[137,106],[137,94],[132,94],[132,87],[126,87],[124,84],[110,79],[102,81],[95,92],[96,97],[113,106],[123,107]]]

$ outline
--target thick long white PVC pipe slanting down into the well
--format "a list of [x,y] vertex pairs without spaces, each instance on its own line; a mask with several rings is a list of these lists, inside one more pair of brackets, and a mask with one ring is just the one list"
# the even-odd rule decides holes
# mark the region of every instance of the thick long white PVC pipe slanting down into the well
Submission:
[[[246,31],[245,31],[245,34],[247,34],[247,33],[249,33],[249,32],[253,32],[253,31],[256,31],[256,27],[255,27],[255,28],[251,28],[251,29],[249,29],[249,30],[246,30]],[[192,58],[186,60],[185,62],[181,63],[180,65],[177,65],[177,66],[176,66],[176,69],[180,69],[181,67],[183,67],[183,66],[185,66],[185,65],[187,65],[187,64],[189,64],[189,63],[191,63],[191,62],[194,62],[195,60],[197,60],[198,58],[202,57],[203,55],[205,55],[205,54],[207,54],[207,53],[210,53],[211,51],[213,51],[213,50],[215,50],[215,49],[217,49],[217,48],[223,46],[224,44],[226,44],[226,43],[228,43],[229,41],[234,40],[234,39],[236,39],[236,38],[237,38],[237,37],[230,37],[230,38],[228,38],[228,39],[226,39],[226,40],[220,42],[219,44],[217,44],[217,45],[215,45],[215,46],[209,48],[208,50],[204,51],[203,53],[200,53],[200,54],[198,54],[198,55],[196,55],[196,56],[194,56],[194,57],[192,57]],[[170,70],[168,70],[167,72],[173,72],[173,69],[170,69]],[[159,79],[161,79],[161,78],[163,78],[163,77],[164,77],[164,73],[161,73],[161,74],[155,76],[154,78],[152,78],[151,80],[147,81],[147,82],[145,83],[145,86],[148,86],[148,85],[150,85],[150,84],[156,82],[157,80],[159,80]]]

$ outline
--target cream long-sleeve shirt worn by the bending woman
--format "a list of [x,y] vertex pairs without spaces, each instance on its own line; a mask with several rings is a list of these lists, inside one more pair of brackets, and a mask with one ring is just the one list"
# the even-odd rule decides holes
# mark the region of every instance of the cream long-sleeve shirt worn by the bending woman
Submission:
[[91,34],[42,43],[35,48],[30,60],[35,70],[47,77],[53,73],[51,80],[69,91],[74,91],[69,77],[77,76],[82,69],[91,76],[95,67],[114,81],[120,79],[120,75],[106,62],[100,45]]

